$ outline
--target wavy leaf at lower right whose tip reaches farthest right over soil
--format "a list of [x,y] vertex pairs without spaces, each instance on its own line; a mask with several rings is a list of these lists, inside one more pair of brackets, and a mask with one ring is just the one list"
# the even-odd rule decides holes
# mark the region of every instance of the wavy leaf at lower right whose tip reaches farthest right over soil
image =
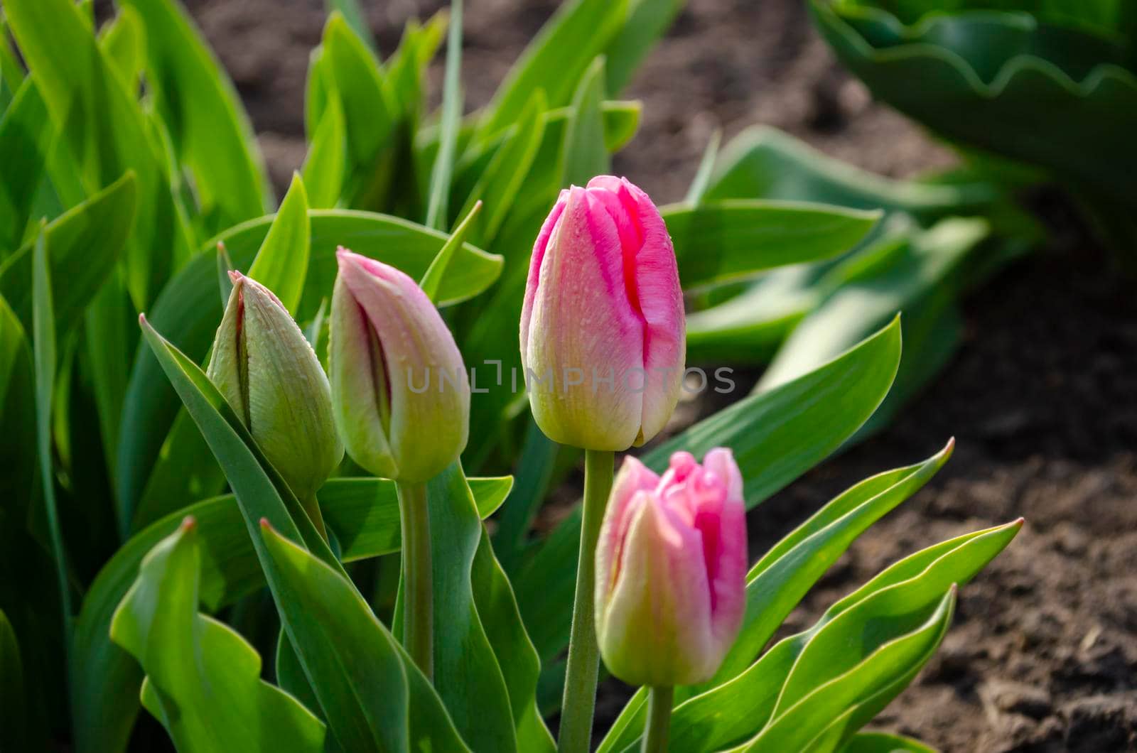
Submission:
[[[878,646],[924,621],[953,584],[962,586],[971,580],[1021,527],[1019,520],[966,533],[890,565],[830,606],[812,628],[774,644],[735,679],[679,704],[672,715],[671,750],[709,753],[756,734],[771,720],[790,672],[802,672],[795,679],[795,686],[802,681],[802,687],[806,675],[810,687],[837,678],[844,668],[860,663]],[[827,636],[819,647],[841,644],[844,648],[820,654],[811,649],[812,659],[802,663],[806,647],[822,632]],[[624,727],[611,734],[598,751],[625,750],[634,744],[640,728]]]

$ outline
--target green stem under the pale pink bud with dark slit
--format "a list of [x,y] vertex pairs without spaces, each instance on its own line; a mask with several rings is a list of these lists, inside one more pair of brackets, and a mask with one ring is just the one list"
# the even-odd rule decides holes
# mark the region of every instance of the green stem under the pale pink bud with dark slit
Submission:
[[434,676],[434,596],[426,485],[396,485],[402,523],[402,645],[426,679]]

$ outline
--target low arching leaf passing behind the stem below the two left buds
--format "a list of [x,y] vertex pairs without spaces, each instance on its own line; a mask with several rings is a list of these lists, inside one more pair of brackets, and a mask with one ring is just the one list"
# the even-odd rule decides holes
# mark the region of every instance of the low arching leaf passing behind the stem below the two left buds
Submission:
[[[470,479],[482,518],[509,494],[508,477]],[[399,507],[395,483],[383,479],[331,479],[318,493],[324,522],[342,546],[345,561],[375,557],[399,549]],[[118,751],[138,713],[142,673],[109,640],[110,619],[133,582],[142,557],[177,530],[184,516],[197,521],[201,543],[199,595],[216,611],[265,585],[252,541],[233,495],[224,495],[169,513],[135,533],[102,566],[83,601],[76,622],[75,729],[84,748]],[[103,736],[97,740],[98,736]]]

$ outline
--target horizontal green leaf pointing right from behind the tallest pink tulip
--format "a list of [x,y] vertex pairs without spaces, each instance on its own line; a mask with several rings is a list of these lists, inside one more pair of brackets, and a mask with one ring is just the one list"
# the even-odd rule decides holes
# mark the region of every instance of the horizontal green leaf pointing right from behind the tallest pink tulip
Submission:
[[881,216],[841,207],[740,200],[670,205],[661,213],[675,245],[684,290],[832,258],[861,242]]

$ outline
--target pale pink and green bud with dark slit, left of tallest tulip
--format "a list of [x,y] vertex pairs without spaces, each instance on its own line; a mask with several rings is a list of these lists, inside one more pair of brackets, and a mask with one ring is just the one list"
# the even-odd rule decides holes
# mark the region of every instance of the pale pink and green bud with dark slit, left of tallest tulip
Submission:
[[438,309],[392,266],[340,249],[329,371],[348,454],[375,475],[428,481],[466,447],[470,379]]

